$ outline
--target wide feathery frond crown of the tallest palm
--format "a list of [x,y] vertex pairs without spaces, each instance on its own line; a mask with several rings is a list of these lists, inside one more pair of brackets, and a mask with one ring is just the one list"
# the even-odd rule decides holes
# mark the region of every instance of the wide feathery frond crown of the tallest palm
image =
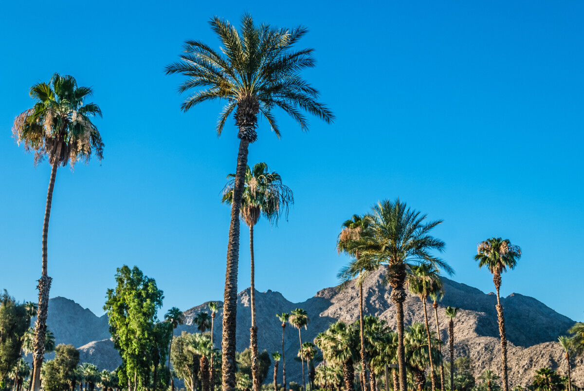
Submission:
[[[227,101],[217,123],[218,134],[240,105],[265,117],[278,137],[280,128],[272,113],[276,107],[293,117],[302,130],[308,129],[308,122],[300,109],[332,122],[331,111],[317,101],[317,89],[300,75],[300,71],[315,66],[314,50],[293,50],[307,29],[256,26],[249,14],[243,16],[239,31],[217,16],[209,23],[223,45],[221,49],[217,51],[201,41],[187,40],[180,61],[166,67],[167,74],[189,77],[179,86],[179,92],[196,90],[182,103],[184,111],[201,102]],[[236,113],[236,120],[241,126],[239,115]],[[252,132],[255,134],[255,130]],[[255,136],[246,137],[255,140]]]

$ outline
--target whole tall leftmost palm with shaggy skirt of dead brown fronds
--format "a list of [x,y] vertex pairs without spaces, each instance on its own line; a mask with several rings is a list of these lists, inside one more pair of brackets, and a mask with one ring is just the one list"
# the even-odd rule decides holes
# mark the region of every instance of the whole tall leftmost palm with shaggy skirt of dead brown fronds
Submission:
[[46,157],[51,164],[43,222],[42,273],[37,285],[39,307],[34,325],[34,391],[40,389],[40,368],[44,358],[48,295],[51,288],[51,278],[47,271],[48,220],[57,168],[67,165],[68,162],[73,167],[78,160],[87,163],[92,154],[99,161],[103,158],[102,137],[91,122],[91,118],[101,116],[102,111],[95,103],[83,104],[91,95],[91,87],[77,86],[75,78],[55,73],[48,83],[41,82],[30,88],[30,96],[36,102],[33,108],[20,113],[12,126],[12,135],[16,142],[19,145],[23,143],[27,152],[34,151],[35,166]]

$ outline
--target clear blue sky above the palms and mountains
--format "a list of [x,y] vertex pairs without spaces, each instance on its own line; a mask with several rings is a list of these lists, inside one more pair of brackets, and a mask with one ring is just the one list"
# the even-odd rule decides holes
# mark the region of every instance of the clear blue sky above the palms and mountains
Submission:
[[[129,2],[128,2],[129,3]],[[220,105],[182,113],[181,77],[162,70],[185,39],[218,41],[208,19],[304,25],[306,72],[335,112],[301,133],[265,120],[249,162],[266,161],[294,190],[288,222],[256,227],[256,287],[303,301],[336,284],[343,220],[399,196],[432,219],[455,280],[491,292],[477,242],[523,248],[502,294],[534,296],[584,320],[582,154],[584,4],[566,2],[0,2],[0,288],[36,300],[50,167],[11,138],[31,85],[54,72],[95,89],[105,141],[93,160],[57,174],[48,241],[51,297],[102,314],[123,264],[164,290],[164,311],[222,300],[235,169],[233,124]],[[239,290],[249,286],[242,225]]]

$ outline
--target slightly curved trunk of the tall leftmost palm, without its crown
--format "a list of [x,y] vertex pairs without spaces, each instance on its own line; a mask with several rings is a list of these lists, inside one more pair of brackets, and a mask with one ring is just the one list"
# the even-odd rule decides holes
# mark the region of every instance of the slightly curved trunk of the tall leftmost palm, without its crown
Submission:
[[48,220],[51,217],[51,204],[53,203],[53,190],[55,188],[55,178],[57,178],[57,168],[59,167],[59,157],[61,156],[61,141],[57,140],[57,150],[53,155],[53,165],[51,166],[51,178],[48,182],[47,205],[44,209],[43,222],[43,264],[42,275],[39,279],[39,307],[37,308],[37,320],[34,324],[34,350],[33,350],[33,391],[40,390],[40,369],[44,359],[44,340],[47,333],[47,313],[48,313],[48,292],[51,289],[51,278],[47,274],[47,239]]

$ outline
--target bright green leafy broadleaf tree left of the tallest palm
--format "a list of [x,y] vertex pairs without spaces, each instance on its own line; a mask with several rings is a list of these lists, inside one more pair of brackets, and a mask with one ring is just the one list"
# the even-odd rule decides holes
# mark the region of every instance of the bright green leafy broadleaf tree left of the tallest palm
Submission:
[[166,359],[168,339],[164,348],[161,347],[159,334],[162,331],[157,330],[158,309],[162,307],[164,296],[154,279],[142,274],[137,267],[118,268],[116,283],[115,289],[107,289],[103,309],[109,317],[114,346],[120,352],[130,380],[128,391],[137,390],[140,385],[150,388],[152,363]]

